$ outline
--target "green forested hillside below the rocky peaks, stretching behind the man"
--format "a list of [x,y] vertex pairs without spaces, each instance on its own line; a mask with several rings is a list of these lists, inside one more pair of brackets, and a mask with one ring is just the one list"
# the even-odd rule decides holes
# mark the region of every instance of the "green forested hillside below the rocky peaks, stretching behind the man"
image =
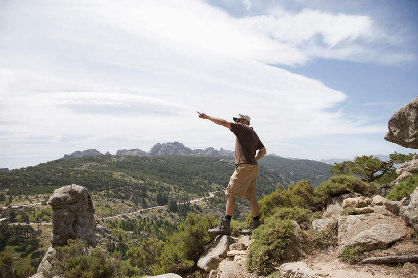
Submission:
[[[309,179],[317,185],[330,176],[329,167],[321,162],[266,156],[260,160],[258,194],[272,192],[278,182],[287,185]],[[154,193],[173,192],[179,200],[190,194],[203,196],[226,187],[233,170],[231,158],[222,157],[96,156],[1,172],[0,185],[8,189],[8,195],[22,195],[50,193],[53,188],[75,183],[92,191],[108,191],[112,197],[133,198],[137,203]]]

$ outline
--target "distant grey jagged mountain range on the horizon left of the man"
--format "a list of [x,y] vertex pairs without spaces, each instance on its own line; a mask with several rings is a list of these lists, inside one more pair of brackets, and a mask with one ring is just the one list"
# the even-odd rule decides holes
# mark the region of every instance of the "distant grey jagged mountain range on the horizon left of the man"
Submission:
[[[70,159],[75,157],[94,157],[94,156],[101,156],[103,155],[100,151],[96,149],[87,149],[83,151],[75,151],[69,155],[65,154],[64,159]],[[112,156],[109,151],[105,153],[105,155]],[[147,157],[156,157],[156,156],[172,156],[172,155],[189,155],[189,156],[199,156],[199,157],[234,157],[234,152],[230,150],[225,150],[220,148],[220,150],[216,150],[212,147],[205,148],[205,149],[191,149],[185,147],[182,143],[179,142],[171,142],[171,143],[164,143],[155,144],[150,151],[146,152],[140,150],[139,148],[134,149],[119,149],[116,151],[115,156],[147,156]]]

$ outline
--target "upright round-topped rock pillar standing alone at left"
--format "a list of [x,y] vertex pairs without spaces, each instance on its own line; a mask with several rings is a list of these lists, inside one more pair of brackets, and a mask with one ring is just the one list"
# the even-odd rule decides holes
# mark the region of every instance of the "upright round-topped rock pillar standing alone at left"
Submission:
[[67,185],[54,190],[48,204],[52,207],[52,246],[63,246],[68,239],[80,238],[96,246],[94,206],[87,189]]

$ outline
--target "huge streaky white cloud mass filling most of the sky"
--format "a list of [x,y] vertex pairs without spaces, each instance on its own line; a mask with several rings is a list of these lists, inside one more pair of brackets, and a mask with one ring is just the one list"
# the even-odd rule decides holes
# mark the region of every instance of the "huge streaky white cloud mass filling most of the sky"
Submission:
[[272,145],[382,132],[345,117],[344,107],[324,111],[345,101],[343,92],[267,64],[414,58],[367,48],[365,41],[387,36],[359,15],[234,18],[191,0],[8,2],[0,10],[0,151],[8,156],[35,145],[56,154],[173,140],[232,149],[232,135],[196,110],[249,114]]

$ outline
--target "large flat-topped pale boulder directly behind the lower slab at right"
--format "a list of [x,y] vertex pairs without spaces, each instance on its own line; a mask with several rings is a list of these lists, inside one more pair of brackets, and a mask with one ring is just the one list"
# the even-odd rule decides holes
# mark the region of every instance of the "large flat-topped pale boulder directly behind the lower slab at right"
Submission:
[[402,221],[392,215],[367,213],[340,216],[338,218],[338,243],[346,244],[357,234],[372,228],[374,225],[394,223],[402,226]]

